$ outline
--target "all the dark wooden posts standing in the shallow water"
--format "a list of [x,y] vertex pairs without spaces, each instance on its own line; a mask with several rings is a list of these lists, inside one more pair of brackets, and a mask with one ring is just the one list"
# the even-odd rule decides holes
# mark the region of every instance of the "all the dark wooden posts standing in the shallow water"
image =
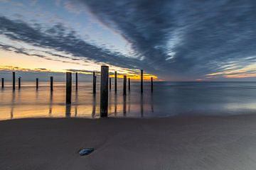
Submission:
[[[93,72],[93,86],[92,92],[96,94],[96,80],[97,77],[95,72]],[[1,79],[1,86],[4,88],[4,78]],[[13,90],[16,87],[16,77],[15,72],[13,72]],[[107,116],[108,108],[108,87],[111,90],[111,77],[109,77],[109,67],[102,66],[100,73],[100,116]],[[141,69],[141,93],[143,93],[143,69]],[[21,89],[21,77],[18,77],[18,89]],[[38,89],[38,78],[36,78],[36,89]],[[131,80],[128,78],[128,90],[131,89]],[[78,73],[75,73],[75,90],[78,90]],[[53,91],[53,77],[50,77],[50,91]],[[114,72],[114,92],[117,93],[117,72]],[[151,92],[153,92],[153,77],[151,77]],[[71,103],[72,94],[72,73],[66,73],[66,104]],[[123,95],[127,94],[127,76],[124,75],[123,80]]]

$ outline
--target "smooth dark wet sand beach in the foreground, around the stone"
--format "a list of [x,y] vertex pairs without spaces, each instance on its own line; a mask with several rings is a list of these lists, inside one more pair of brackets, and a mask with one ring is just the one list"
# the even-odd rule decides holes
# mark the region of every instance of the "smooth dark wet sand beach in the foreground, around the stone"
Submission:
[[[81,157],[81,148],[95,152]],[[256,115],[0,122],[1,169],[256,169]]]

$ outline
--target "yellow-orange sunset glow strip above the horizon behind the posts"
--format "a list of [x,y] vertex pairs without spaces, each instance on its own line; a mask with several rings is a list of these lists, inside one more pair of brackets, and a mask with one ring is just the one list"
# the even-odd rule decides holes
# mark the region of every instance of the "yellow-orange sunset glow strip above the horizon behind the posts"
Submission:
[[[74,63],[72,60],[47,60],[41,57],[29,56],[23,54],[17,54],[15,52],[9,52],[0,50],[1,63],[0,71],[21,71],[21,72],[56,72],[56,73],[65,73],[65,72],[78,72],[80,74],[92,74],[93,71],[96,74],[100,73],[100,66],[104,63],[95,63],[90,60],[78,60]],[[48,56],[51,57],[51,56]],[[54,58],[54,56],[53,56]],[[109,64],[107,64],[109,65]],[[118,72],[117,77],[123,78],[123,75],[127,75],[127,78],[133,80],[140,79],[140,70],[139,69],[127,69],[122,67],[111,66],[110,74],[113,74],[114,71]],[[71,71],[68,71],[71,70]],[[110,77],[114,77],[110,75]],[[145,80],[157,79],[158,77],[151,74],[144,74]]]

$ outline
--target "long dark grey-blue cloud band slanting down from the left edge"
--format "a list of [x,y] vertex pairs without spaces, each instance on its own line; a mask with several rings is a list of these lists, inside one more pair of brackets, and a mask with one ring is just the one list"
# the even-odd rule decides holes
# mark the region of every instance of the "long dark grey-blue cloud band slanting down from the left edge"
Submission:
[[[65,28],[62,24],[58,23],[53,28],[43,30],[40,25],[36,27],[29,26],[22,21],[11,21],[6,17],[0,17],[0,33],[10,38],[11,40],[22,41],[38,47],[45,47],[59,52],[64,52],[73,55],[73,60],[92,60],[99,63],[112,64],[118,67],[136,68],[139,67],[140,61],[124,57],[117,52],[110,52],[104,48],[91,45],[85,40],[82,40],[75,31]],[[5,50],[13,50],[14,52],[31,55],[26,52],[26,49],[11,47],[0,43],[1,48]],[[57,57],[65,57],[63,55],[56,55],[47,52],[50,55]],[[44,55],[33,53],[38,57],[43,57],[48,60],[54,60]]]

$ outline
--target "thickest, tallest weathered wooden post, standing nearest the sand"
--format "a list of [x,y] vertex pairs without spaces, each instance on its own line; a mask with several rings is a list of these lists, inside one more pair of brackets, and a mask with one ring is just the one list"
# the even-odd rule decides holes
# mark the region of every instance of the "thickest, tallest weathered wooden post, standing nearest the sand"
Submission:
[[100,74],[100,117],[107,116],[109,67],[102,66]]

